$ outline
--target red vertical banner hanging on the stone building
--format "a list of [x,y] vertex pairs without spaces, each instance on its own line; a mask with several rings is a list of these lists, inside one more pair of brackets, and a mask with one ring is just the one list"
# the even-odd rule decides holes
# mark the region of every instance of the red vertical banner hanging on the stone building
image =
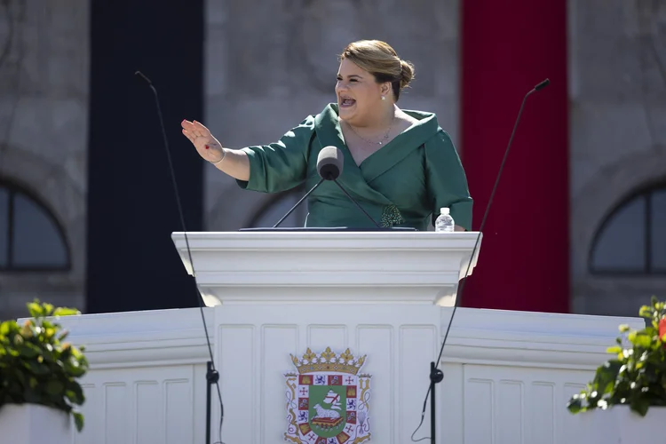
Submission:
[[567,2],[461,2],[461,147],[479,230],[528,99],[462,305],[569,311]]

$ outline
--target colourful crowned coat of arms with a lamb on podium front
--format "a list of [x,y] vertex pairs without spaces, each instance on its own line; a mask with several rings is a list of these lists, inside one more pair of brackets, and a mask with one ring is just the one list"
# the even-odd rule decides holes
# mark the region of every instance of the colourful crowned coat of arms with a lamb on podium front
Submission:
[[290,355],[296,372],[285,374],[287,432],[295,444],[360,444],[370,440],[370,375],[366,357],[330,348],[319,355],[309,348],[301,359]]

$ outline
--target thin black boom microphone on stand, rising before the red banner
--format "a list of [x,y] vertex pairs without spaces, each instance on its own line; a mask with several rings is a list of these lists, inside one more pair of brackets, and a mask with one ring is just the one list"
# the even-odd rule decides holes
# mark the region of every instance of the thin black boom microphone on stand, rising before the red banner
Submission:
[[[481,234],[483,233],[483,227],[486,226],[486,219],[488,218],[488,211],[490,210],[490,205],[493,203],[493,199],[495,198],[495,192],[497,191],[497,185],[499,184],[499,180],[502,177],[502,171],[504,170],[504,163],[506,163],[506,158],[509,155],[509,149],[511,148],[511,142],[513,142],[513,136],[516,134],[516,128],[518,128],[518,123],[520,121],[520,115],[522,115],[523,112],[523,107],[525,107],[525,102],[527,101],[527,98],[535,93],[536,91],[543,90],[546,86],[548,86],[551,83],[549,79],[543,80],[543,82],[538,83],[534,88],[532,88],[530,91],[527,91],[527,94],[525,94],[525,97],[523,98],[522,104],[520,104],[520,108],[518,111],[518,116],[516,117],[516,122],[513,123],[513,131],[511,131],[511,137],[509,138],[509,143],[507,144],[506,150],[504,151],[504,157],[502,159],[502,163],[500,164],[500,168],[497,171],[497,177],[495,179],[495,185],[493,186],[493,190],[490,193],[490,198],[488,199],[488,206],[486,207],[486,211],[483,213],[483,218],[481,219],[481,225],[479,227],[479,234],[476,237],[476,242],[474,243],[474,248],[472,250],[472,255],[470,256],[470,261],[467,264],[467,270],[465,271],[464,277],[463,277],[463,282],[460,284],[460,289],[458,290],[458,294],[456,297],[456,303],[453,305],[453,310],[451,311],[451,317],[448,320],[448,326],[446,333],[444,334],[444,339],[441,342],[441,347],[440,347],[440,354],[437,357],[437,361],[433,361],[430,363],[430,385],[428,387],[428,392],[425,393],[425,400],[424,400],[424,408],[421,411],[421,422],[418,424],[416,427],[416,430],[414,433],[412,433],[411,439],[412,441],[416,442],[418,440],[414,440],[414,435],[418,431],[418,429],[421,428],[421,424],[424,424],[424,416],[425,416],[425,405],[428,402],[428,396],[431,396],[430,400],[430,442],[431,444],[435,444],[435,385],[440,383],[442,380],[444,380],[444,372],[438,369],[437,367],[440,365],[441,361],[441,355],[444,353],[444,345],[447,343],[448,339],[448,332],[451,329],[451,324],[453,323],[453,317],[456,315],[456,309],[458,305],[460,305],[460,301],[463,299],[463,290],[464,290],[464,284],[467,281],[467,276],[470,274],[470,267],[472,266],[472,260],[474,259],[474,256],[476,255],[476,250],[479,247],[479,241]],[[425,440],[427,438],[422,438],[421,440]]]

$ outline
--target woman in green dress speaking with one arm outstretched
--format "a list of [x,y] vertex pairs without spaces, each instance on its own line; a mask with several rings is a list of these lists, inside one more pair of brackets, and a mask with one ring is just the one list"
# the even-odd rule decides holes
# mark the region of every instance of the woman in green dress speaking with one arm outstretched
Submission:
[[[320,181],[321,148],[342,150],[337,179],[385,227],[427,230],[447,207],[456,230],[472,229],[472,197],[460,158],[433,113],[400,109],[414,67],[377,40],[349,44],[340,56],[337,103],[310,115],[270,145],[230,149],[196,121],[182,132],[206,161],[248,190],[277,193]],[[324,181],[308,198],[305,226],[374,226],[344,192]]]

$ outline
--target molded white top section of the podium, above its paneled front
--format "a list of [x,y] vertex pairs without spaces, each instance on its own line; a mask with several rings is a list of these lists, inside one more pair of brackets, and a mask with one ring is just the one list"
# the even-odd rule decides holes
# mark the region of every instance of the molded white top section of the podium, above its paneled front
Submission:
[[[206,305],[452,306],[478,233],[183,233],[173,242]],[[470,274],[479,256],[477,248]]]

